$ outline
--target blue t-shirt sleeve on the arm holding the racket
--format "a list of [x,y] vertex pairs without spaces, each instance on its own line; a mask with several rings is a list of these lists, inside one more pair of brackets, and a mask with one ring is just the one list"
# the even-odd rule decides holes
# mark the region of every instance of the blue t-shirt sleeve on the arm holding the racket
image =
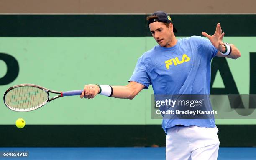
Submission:
[[135,81],[145,86],[145,89],[148,89],[148,86],[151,85],[151,80],[148,75],[147,65],[143,62],[143,58],[140,57],[136,64],[136,67],[133,71],[130,81]]

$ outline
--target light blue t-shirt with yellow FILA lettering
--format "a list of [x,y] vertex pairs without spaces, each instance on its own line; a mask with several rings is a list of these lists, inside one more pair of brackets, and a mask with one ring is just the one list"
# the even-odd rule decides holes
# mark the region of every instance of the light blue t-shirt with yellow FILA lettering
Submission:
[[[173,47],[157,45],[138,59],[129,82],[152,85],[155,95],[210,95],[210,62],[217,52],[199,36],[179,39]],[[175,125],[216,126],[214,119],[163,119],[165,132]]]

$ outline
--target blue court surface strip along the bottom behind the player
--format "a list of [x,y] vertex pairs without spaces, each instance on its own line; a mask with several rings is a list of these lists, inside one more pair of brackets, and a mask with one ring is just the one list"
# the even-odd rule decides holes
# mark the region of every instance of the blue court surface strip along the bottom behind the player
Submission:
[[[27,157],[3,157],[4,152],[28,152]],[[164,160],[165,148],[158,147],[73,147],[0,148],[2,160]],[[256,160],[256,148],[222,147],[218,160]]]

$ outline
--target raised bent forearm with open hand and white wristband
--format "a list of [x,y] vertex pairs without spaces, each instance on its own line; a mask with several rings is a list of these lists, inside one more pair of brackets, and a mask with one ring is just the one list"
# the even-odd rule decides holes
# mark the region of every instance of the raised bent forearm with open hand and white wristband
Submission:
[[235,45],[222,42],[224,34],[225,33],[221,30],[220,23],[217,24],[214,35],[208,35],[206,32],[202,32],[202,35],[207,37],[212,45],[218,50],[216,56],[232,59],[241,57],[241,53]]

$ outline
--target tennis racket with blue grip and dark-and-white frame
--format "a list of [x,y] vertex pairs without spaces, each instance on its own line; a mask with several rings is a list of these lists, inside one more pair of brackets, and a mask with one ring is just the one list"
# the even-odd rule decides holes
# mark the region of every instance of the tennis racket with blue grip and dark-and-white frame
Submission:
[[[50,99],[49,92],[58,94]],[[33,84],[21,84],[10,87],[4,94],[5,105],[18,112],[36,110],[59,97],[81,95],[83,90],[58,92]]]

